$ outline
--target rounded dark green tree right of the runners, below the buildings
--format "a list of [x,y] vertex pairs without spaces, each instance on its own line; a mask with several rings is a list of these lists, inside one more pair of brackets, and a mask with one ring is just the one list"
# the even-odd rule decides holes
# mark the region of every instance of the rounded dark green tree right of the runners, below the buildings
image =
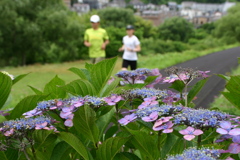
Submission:
[[158,32],[160,39],[187,42],[193,35],[194,28],[184,18],[173,17],[161,24]]

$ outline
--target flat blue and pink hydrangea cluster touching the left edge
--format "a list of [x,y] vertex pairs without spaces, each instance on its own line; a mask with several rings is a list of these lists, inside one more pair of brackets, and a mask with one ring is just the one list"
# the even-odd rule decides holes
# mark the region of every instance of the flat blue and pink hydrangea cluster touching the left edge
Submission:
[[36,118],[21,118],[17,120],[10,120],[3,122],[3,126],[0,128],[0,131],[5,136],[11,136],[16,131],[23,130],[33,130],[33,129],[46,129],[46,130],[54,130],[57,129],[52,125],[56,121],[52,120],[49,117],[38,116]]

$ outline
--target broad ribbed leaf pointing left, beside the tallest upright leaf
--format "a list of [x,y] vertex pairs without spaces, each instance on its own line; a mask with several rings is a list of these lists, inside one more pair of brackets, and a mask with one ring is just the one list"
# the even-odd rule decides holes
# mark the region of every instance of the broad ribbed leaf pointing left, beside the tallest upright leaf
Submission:
[[89,81],[82,79],[75,80],[65,86],[61,86],[60,88],[75,96],[96,95],[96,90],[93,85]]

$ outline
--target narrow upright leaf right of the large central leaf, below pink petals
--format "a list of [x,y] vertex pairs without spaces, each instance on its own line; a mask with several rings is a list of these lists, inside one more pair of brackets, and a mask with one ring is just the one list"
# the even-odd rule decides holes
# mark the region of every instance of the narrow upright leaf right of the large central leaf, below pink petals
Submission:
[[[107,107],[110,107],[110,106],[107,106]],[[108,113],[102,115],[96,121],[96,125],[98,126],[98,129],[99,129],[99,138],[102,137],[103,132],[109,126],[110,121],[116,111],[114,106],[111,106],[111,107],[112,107],[112,109]]]

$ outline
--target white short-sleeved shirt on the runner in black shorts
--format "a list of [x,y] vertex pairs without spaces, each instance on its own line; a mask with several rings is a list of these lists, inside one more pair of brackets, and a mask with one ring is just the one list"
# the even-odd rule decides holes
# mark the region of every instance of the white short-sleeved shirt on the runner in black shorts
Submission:
[[138,59],[137,52],[130,52],[127,50],[129,49],[135,49],[136,46],[140,45],[140,41],[135,35],[132,35],[131,37],[124,36],[123,37],[123,44],[124,44],[124,53],[123,53],[123,59],[129,60],[129,61],[136,61]]

